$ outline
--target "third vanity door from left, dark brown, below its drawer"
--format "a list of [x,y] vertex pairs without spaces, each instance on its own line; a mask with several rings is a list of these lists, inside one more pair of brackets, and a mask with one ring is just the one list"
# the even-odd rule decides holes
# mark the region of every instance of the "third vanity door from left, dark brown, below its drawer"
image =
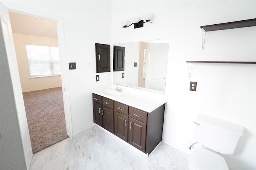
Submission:
[[123,115],[115,111],[114,113],[114,134],[123,139],[124,141],[128,141],[128,116]]

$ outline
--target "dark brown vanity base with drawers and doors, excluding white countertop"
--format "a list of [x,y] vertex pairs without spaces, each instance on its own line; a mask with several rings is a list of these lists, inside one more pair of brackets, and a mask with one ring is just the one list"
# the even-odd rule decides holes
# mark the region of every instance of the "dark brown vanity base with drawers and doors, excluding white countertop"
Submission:
[[145,154],[162,141],[165,104],[149,113],[96,94],[93,101],[94,122],[100,125],[101,115],[102,127]]

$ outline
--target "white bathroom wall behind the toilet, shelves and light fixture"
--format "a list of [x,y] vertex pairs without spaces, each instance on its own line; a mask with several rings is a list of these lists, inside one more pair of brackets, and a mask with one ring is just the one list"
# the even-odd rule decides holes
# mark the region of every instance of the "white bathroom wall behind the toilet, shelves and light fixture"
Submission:
[[[124,8],[125,6],[125,8]],[[153,13],[143,28],[122,28],[120,21]],[[255,1],[112,1],[112,42],[170,39],[163,141],[189,152],[197,113],[244,126],[232,170],[255,169],[255,64],[193,64],[186,61],[256,61],[256,27],[210,31],[201,50],[201,25],[256,18]],[[122,35],[122,36],[120,36]],[[197,82],[196,92],[189,91]]]

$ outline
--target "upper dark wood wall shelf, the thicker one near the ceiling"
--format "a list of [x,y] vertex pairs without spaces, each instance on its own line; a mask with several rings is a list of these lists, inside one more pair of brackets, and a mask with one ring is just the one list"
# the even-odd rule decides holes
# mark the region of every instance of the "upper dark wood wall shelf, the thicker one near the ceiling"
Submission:
[[233,28],[252,27],[252,26],[256,26],[256,18],[250,19],[250,20],[219,23],[214,25],[205,25],[205,26],[201,26],[200,28],[204,29],[205,31],[216,31],[216,30],[222,30],[222,29],[233,29]]

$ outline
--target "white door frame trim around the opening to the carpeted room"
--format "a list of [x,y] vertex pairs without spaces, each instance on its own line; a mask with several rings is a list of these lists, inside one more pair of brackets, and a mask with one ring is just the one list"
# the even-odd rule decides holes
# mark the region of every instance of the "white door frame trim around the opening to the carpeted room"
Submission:
[[[66,120],[66,130],[67,135],[69,137],[73,137],[72,131],[72,119],[71,119],[71,109],[70,109],[70,97],[69,97],[69,87],[68,87],[68,69],[66,63],[66,51],[65,51],[65,41],[64,41],[64,24],[63,18],[59,16],[54,16],[52,14],[47,14],[44,12],[31,10],[29,8],[24,8],[21,6],[16,6],[13,4],[9,4],[7,2],[1,2],[6,6],[8,11],[15,12],[23,15],[33,16],[36,18],[41,18],[44,20],[54,21],[57,24],[57,36],[58,36],[58,46],[60,50],[60,68],[61,68],[61,81],[62,81],[62,93],[63,93],[63,102],[64,102],[64,113],[65,113],[65,120]],[[13,40],[12,40],[13,41]],[[16,57],[15,57],[15,60]],[[16,69],[18,70],[18,66]],[[22,93],[22,91],[20,92]]]

